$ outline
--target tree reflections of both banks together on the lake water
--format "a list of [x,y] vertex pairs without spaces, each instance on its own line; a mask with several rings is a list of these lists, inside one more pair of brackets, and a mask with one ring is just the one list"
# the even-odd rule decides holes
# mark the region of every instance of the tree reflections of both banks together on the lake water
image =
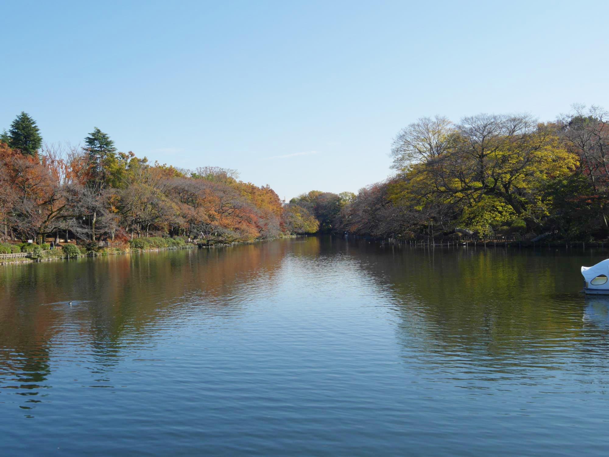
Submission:
[[336,289],[362,306],[375,297],[395,324],[403,363],[466,388],[560,377],[574,357],[584,372],[605,372],[607,305],[577,293],[579,266],[602,255],[311,237],[7,266],[0,389],[32,408],[57,367],[66,378],[86,369],[78,385],[117,388],[122,361],[155,360],[159,342],[179,338],[192,319],[214,331],[304,278],[311,283],[290,300],[323,301]]

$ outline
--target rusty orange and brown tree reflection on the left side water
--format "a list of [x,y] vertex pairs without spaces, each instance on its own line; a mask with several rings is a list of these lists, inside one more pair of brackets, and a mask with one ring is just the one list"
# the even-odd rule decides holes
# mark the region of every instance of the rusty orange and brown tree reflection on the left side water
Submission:
[[[0,389],[43,394],[52,367],[65,363],[86,367],[94,386],[111,387],[107,374],[168,321],[241,313],[287,250],[315,256],[319,239],[3,267]],[[51,363],[54,347],[62,349]]]

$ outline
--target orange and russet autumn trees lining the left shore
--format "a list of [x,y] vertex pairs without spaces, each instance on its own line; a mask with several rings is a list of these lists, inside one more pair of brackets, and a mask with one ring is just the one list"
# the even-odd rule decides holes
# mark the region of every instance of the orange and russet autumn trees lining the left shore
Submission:
[[[133,152],[118,152],[97,127],[83,148],[45,144],[32,152],[11,144],[0,142],[5,239],[110,239],[142,249],[181,243],[153,236],[234,242],[317,231],[314,218],[284,208],[268,185],[242,182],[230,169],[150,165]],[[141,238],[148,239],[135,241]]]

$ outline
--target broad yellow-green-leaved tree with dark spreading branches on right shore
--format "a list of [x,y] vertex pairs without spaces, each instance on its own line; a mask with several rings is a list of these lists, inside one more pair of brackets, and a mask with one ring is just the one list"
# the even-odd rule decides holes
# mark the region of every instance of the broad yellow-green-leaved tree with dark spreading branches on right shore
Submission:
[[404,196],[468,209],[496,201],[506,217],[522,219],[534,230],[548,214],[542,199],[546,186],[576,167],[555,126],[527,115],[466,117],[449,138],[440,154],[421,155],[401,170]]

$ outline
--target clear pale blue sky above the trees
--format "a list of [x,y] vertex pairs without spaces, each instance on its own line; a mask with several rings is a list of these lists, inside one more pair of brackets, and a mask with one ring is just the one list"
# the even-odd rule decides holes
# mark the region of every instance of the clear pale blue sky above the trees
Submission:
[[0,128],[236,168],[281,197],[390,174],[420,116],[609,108],[609,2],[9,2]]

